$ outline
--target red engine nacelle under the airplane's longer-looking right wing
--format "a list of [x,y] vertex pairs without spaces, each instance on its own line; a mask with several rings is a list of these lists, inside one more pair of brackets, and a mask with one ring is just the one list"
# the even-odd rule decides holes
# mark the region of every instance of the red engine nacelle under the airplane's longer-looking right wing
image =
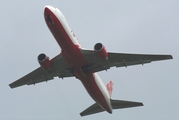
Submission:
[[102,59],[108,59],[108,53],[106,51],[106,48],[103,46],[103,44],[96,43],[94,46],[94,51]]

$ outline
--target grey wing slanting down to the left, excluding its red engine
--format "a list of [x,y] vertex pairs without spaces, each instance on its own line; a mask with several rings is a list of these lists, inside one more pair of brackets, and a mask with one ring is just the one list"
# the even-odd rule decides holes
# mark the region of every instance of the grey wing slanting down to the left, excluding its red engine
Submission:
[[51,65],[52,67],[50,70],[47,71],[42,67],[39,67],[31,73],[11,83],[9,86],[11,88],[15,88],[22,85],[31,85],[52,80],[54,77],[64,78],[74,76],[72,69],[67,66],[61,54],[51,60]]

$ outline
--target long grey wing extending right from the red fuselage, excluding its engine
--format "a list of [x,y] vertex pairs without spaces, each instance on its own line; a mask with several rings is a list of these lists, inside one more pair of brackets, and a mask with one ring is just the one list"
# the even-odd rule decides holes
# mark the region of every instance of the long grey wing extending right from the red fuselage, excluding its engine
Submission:
[[146,64],[152,61],[173,59],[171,55],[126,54],[108,52],[108,60],[101,59],[93,50],[81,50],[92,72],[107,70],[110,67],[127,67]]

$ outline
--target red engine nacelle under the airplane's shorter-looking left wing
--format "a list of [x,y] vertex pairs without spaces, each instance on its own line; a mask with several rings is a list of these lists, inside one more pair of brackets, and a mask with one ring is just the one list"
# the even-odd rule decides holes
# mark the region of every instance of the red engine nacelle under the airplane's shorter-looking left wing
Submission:
[[42,53],[38,56],[38,62],[40,64],[40,66],[42,68],[44,68],[45,70],[48,70],[51,67],[50,59],[44,53]]

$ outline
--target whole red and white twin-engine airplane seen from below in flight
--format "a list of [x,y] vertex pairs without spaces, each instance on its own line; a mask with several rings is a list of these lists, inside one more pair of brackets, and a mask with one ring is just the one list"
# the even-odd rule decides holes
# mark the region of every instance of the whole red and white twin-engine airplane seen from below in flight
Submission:
[[80,113],[81,116],[103,111],[112,113],[113,109],[143,106],[141,102],[111,99],[113,82],[106,86],[97,72],[111,67],[127,67],[146,64],[152,61],[173,59],[172,55],[129,54],[107,52],[102,43],[96,43],[94,50],[81,47],[77,37],[67,23],[62,12],[53,6],[44,8],[44,19],[61,48],[61,53],[50,59],[41,53],[37,59],[40,67],[24,77],[9,84],[11,88],[22,85],[35,85],[54,79],[54,77],[76,77],[95,101],[93,105]]

